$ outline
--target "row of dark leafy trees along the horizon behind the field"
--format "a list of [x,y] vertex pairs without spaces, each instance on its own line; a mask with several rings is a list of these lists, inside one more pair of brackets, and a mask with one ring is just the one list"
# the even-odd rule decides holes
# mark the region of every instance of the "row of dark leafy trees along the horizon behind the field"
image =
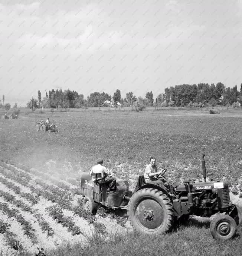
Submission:
[[[242,83],[240,91],[237,85],[230,88],[225,88],[221,82],[208,84],[182,84],[165,88],[164,93],[157,96],[156,104],[161,107],[206,107],[206,106],[233,106],[241,105]],[[11,108],[9,103],[4,103],[5,97],[0,100],[0,107],[8,111]],[[27,103],[30,109],[36,108],[81,108],[81,107],[98,107],[112,106],[117,107],[136,107],[139,110],[147,106],[154,105],[152,91],[147,92],[145,97],[136,97],[132,91],[126,93],[125,98],[121,97],[121,91],[117,89],[113,95],[105,92],[93,92],[84,99],[83,94],[78,94],[76,91],[62,89],[52,89],[45,92],[42,98],[41,92],[37,92],[37,98],[32,98]],[[17,104],[15,103],[15,108]]]

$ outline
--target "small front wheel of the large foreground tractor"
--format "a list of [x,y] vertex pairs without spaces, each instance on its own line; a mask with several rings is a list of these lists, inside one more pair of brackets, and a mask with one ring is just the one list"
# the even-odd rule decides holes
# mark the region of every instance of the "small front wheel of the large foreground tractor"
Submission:
[[237,224],[229,215],[218,215],[210,224],[210,232],[214,238],[228,240],[235,236]]

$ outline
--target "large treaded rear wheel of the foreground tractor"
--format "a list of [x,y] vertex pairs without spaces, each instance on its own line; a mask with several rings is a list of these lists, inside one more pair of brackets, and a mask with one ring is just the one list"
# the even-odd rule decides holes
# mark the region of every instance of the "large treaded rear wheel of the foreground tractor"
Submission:
[[174,222],[170,199],[152,188],[134,193],[128,203],[127,215],[133,230],[143,234],[166,233]]

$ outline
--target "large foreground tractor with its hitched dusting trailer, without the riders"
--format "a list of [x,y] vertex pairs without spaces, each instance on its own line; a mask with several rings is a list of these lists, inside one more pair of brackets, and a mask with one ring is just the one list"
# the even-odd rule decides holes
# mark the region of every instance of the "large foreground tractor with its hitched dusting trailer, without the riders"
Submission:
[[[137,183],[135,190],[129,190],[128,182],[117,178],[116,192],[107,193],[107,187],[92,181],[88,173],[81,174],[83,208],[95,212],[98,204],[112,209],[125,209],[133,230],[141,234],[166,233],[174,222],[190,215],[213,216],[210,232],[214,238],[228,240],[235,236],[237,226],[242,222],[241,209],[232,203],[226,182],[207,182],[204,156],[202,170],[204,182],[191,183],[186,179],[171,184],[175,195],[168,189],[155,184]],[[166,169],[160,174],[164,178]],[[158,177],[159,178],[159,177]],[[144,177],[139,176],[139,181]]]

